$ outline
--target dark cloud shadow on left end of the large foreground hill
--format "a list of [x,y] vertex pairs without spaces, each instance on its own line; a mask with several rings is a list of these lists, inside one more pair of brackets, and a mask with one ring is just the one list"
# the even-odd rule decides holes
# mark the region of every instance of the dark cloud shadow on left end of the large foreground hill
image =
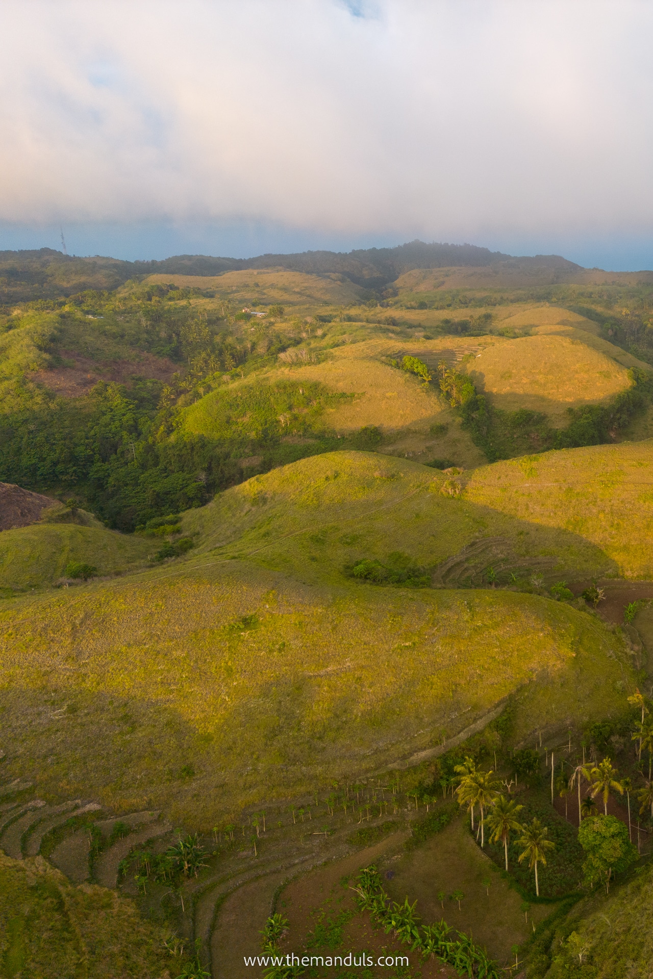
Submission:
[[20,778],[44,797],[174,815],[194,808],[198,778],[215,769],[207,736],[161,703],[75,683],[16,684],[0,690],[0,714],[6,734],[0,783]]

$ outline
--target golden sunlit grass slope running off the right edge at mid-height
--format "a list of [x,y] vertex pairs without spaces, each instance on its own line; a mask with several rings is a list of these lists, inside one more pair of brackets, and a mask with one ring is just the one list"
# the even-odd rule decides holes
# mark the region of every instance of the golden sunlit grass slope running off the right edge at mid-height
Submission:
[[653,442],[591,445],[496,462],[471,474],[465,499],[583,538],[614,574],[653,577]]

